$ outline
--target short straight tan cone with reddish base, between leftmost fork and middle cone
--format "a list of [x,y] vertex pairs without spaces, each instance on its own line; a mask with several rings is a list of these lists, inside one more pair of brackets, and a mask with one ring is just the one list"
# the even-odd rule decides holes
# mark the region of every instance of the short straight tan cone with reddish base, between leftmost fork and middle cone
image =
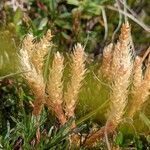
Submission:
[[48,99],[47,106],[55,112],[56,117],[61,124],[66,122],[65,114],[63,112],[63,70],[64,57],[59,53],[54,54],[52,68],[50,69],[49,82],[47,84]]

